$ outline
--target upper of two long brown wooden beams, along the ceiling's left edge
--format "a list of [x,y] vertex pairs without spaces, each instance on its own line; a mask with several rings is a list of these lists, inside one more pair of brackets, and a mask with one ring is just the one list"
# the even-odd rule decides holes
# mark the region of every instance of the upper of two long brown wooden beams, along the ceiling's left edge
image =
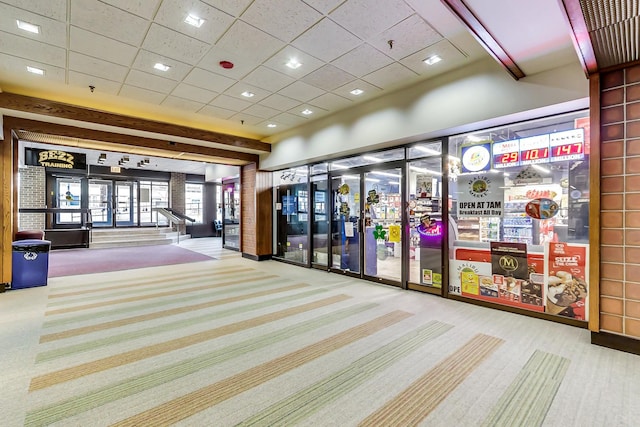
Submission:
[[259,152],[271,152],[271,145],[257,139],[244,138],[224,133],[211,132],[187,126],[175,125],[165,122],[157,122],[121,114],[108,113],[93,110],[61,102],[50,101],[42,98],[18,95],[9,92],[0,92],[0,108],[40,114],[50,117],[58,117],[70,120],[79,120],[88,123],[97,123],[107,126],[115,126],[125,129],[154,132],[181,138],[198,139],[216,144],[224,144],[230,147],[255,150]]

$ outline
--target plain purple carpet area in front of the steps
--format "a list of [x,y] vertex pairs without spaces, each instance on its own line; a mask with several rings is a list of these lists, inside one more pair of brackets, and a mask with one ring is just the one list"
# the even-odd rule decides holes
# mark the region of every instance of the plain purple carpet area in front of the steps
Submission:
[[210,261],[211,257],[177,245],[109,249],[59,249],[49,253],[49,277],[132,270]]

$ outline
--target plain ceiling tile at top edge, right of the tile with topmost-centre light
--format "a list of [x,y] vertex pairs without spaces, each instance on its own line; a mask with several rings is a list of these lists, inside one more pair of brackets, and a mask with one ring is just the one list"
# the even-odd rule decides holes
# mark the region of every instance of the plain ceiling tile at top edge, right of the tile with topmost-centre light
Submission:
[[242,20],[280,40],[290,42],[322,19],[300,0],[255,0]]

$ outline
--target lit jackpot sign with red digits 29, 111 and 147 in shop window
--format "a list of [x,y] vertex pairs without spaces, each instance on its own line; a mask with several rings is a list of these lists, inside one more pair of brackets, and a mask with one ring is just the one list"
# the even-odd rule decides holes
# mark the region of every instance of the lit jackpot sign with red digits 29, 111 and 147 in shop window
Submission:
[[584,129],[495,142],[492,148],[494,169],[580,160],[584,158]]

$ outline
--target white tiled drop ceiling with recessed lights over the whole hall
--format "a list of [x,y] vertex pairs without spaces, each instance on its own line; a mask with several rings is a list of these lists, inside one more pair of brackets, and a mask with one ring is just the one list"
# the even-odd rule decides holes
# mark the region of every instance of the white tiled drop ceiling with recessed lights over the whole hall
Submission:
[[[462,3],[525,76],[576,60],[557,0]],[[258,140],[488,55],[440,0],[0,1],[3,91]]]

